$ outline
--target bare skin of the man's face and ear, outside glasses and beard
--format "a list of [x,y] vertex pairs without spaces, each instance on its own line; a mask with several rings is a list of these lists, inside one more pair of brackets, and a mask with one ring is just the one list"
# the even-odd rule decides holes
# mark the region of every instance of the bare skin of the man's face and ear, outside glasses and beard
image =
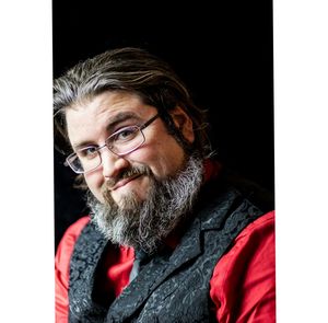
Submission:
[[[106,138],[121,127],[141,125],[156,115],[155,107],[145,105],[141,99],[127,92],[104,92],[91,100],[75,104],[67,109],[67,127],[74,150],[89,145],[103,146]],[[172,113],[175,125],[184,137],[194,142],[192,122],[188,115],[176,107]],[[143,134],[145,142],[133,152],[118,157],[106,147],[101,150],[103,163],[96,170],[84,174],[93,195],[104,203],[103,189],[110,180],[132,165],[148,165],[153,175],[161,180],[174,176],[181,169],[185,153],[176,139],[168,135],[161,118],[149,125]],[[133,193],[140,200],[147,198],[150,178],[147,175],[128,177],[107,187],[113,199],[120,205],[125,195]]]

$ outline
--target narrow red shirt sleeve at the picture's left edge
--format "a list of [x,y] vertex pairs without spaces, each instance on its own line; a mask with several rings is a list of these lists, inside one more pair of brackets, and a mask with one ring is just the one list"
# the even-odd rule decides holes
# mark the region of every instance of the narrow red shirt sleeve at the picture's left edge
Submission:
[[71,224],[65,232],[55,257],[55,315],[56,323],[67,323],[69,316],[69,267],[74,244],[89,217],[83,217]]

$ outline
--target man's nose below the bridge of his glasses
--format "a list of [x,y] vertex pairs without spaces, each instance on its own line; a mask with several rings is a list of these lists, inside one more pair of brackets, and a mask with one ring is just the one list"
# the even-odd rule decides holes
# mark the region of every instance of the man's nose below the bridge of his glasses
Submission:
[[102,154],[102,168],[103,176],[105,178],[115,177],[121,170],[129,166],[129,162],[124,157],[117,155],[109,149],[103,149]]

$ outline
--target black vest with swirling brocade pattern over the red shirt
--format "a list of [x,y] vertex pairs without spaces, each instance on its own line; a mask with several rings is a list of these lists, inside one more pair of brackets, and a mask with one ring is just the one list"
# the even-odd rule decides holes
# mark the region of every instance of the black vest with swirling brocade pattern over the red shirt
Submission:
[[216,188],[203,189],[177,247],[153,256],[108,307],[93,298],[108,242],[87,224],[71,258],[70,322],[216,322],[210,310],[213,269],[238,233],[271,207],[259,208],[235,188]]

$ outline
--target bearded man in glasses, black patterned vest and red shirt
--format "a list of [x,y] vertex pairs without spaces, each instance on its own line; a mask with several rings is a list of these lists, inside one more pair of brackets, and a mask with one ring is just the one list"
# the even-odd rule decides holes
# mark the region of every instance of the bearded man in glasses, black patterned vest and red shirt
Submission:
[[54,88],[91,209],[56,254],[57,322],[274,322],[272,200],[210,158],[171,67],[114,49]]

